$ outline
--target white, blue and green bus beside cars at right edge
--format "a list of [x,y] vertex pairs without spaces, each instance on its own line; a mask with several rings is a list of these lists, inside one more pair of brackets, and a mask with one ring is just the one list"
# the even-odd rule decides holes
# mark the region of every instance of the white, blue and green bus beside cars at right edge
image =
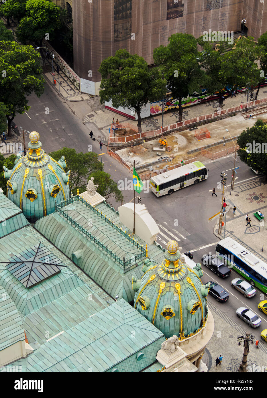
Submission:
[[215,249],[215,254],[230,265],[243,278],[248,279],[252,286],[257,286],[267,293],[267,263],[261,261],[232,238],[221,240]]

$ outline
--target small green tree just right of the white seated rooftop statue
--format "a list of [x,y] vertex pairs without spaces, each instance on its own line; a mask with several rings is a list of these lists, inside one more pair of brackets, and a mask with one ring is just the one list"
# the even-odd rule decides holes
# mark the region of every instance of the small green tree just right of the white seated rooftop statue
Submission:
[[89,179],[91,177],[94,177],[95,185],[99,184],[97,192],[105,197],[105,200],[107,202],[109,201],[109,199],[112,198],[114,198],[116,202],[120,202],[123,200],[123,194],[119,190],[115,181],[110,178],[110,174],[98,170],[97,172],[91,173]]

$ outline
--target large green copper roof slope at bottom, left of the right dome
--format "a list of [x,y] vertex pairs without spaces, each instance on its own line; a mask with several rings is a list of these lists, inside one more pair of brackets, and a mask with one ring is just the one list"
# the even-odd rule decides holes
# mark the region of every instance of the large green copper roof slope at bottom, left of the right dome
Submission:
[[12,365],[22,365],[22,372],[138,372],[155,361],[163,341],[122,299]]

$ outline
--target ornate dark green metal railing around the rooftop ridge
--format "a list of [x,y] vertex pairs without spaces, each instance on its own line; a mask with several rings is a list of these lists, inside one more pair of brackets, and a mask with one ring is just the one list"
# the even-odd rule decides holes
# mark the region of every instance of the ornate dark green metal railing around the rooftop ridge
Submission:
[[[97,239],[94,235],[90,234],[90,232],[88,232],[88,230],[83,228],[76,220],[74,220],[72,217],[70,217],[70,215],[68,215],[68,213],[66,213],[64,210],[62,210],[62,207],[69,205],[70,203],[73,203],[76,200],[81,201],[84,205],[89,207],[90,210],[92,210],[94,213],[96,213],[98,217],[101,217],[102,220],[107,222],[107,224],[109,224],[113,229],[115,229],[117,232],[119,232],[119,234],[124,236],[137,249],[139,249],[140,253],[133,255],[133,257],[128,259],[127,261],[125,261],[125,257],[123,257],[123,260],[122,260],[115,253],[113,253],[112,250],[110,250],[107,247],[107,245],[105,246],[102,242],[100,242],[99,239]],[[133,265],[133,260],[135,263],[138,259],[141,259],[142,257],[146,256],[146,249],[143,247],[143,245],[140,245],[138,243],[138,241],[134,240],[134,238],[132,238],[129,234],[127,234],[126,231],[123,231],[123,229],[121,227],[119,227],[117,224],[114,224],[113,221],[111,221],[109,218],[107,218],[105,215],[103,215],[103,213],[100,212],[98,209],[95,209],[94,206],[90,205],[90,203],[88,203],[86,200],[84,200],[80,196],[72,197],[72,198],[67,199],[66,201],[63,201],[58,204],[56,203],[55,211],[57,211],[60,215],[62,215],[66,220],[68,220],[72,225],[74,225],[75,228],[77,228],[80,232],[82,232],[82,234],[86,235],[91,241],[94,241],[94,243],[97,244],[97,246],[99,248],[101,248],[103,251],[105,251],[107,254],[109,254],[111,256],[111,258],[115,259],[116,262],[118,262],[120,265],[122,265],[123,269],[125,269],[129,265]]]

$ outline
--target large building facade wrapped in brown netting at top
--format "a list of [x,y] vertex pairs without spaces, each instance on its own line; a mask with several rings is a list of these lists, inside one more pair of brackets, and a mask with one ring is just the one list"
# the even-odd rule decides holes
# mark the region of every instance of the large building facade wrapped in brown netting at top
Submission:
[[[101,61],[113,56],[118,49],[127,49],[153,64],[154,48],[167,45],[173,33],[199,37],[209,29],[243,30],[258,39],[267,30],[267,2],[72,0],[72,18],[74,70],[81,78],[99,82]],[[242,26],[243,18],[246,25]]]

